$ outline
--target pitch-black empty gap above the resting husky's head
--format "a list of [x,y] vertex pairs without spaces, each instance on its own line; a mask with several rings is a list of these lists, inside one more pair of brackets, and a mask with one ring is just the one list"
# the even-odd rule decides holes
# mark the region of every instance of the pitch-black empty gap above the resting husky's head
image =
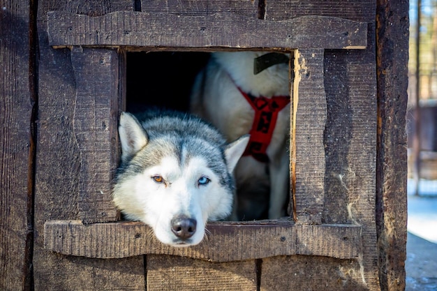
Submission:
[[126,110],[158,106],[188,111],[195,76],[208,59],[207,52],[128,52]]

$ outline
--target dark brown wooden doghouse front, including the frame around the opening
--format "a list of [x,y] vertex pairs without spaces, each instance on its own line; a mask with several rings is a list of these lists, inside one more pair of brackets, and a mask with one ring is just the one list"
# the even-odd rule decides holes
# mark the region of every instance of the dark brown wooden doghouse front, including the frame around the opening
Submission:
[[[408,1],[30,2],[0,12],[2,290],[403,290]],[[172,248],[111,201],[126,55],[215,50],[294,57],[293,211]]]

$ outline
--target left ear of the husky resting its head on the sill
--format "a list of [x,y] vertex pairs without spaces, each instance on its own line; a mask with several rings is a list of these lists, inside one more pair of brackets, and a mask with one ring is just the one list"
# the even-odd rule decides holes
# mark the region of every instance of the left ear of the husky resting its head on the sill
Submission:
[[133,156],[147,144],[147,134],[132,114],[121,112],[119,124],[121,159]]

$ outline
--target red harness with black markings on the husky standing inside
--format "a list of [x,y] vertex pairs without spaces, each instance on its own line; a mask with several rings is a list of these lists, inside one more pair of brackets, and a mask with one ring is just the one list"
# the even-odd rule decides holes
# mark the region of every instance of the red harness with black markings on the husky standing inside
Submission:
[[278,114],[283,107],[290,103],[290,96],[273,96],[272,98],[264,96],[254,97],[242,91],[239,87],[237,88],[252,106],[253,110],[255,110],[255,118],[249,132],[251,137],[243,156],[253,156],[255,160],[267,163],[269,157],[266,151],[272,141]]

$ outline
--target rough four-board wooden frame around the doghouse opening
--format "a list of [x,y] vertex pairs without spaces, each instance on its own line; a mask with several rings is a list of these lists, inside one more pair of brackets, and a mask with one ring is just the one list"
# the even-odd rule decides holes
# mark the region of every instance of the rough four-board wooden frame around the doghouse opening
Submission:
[[[165,254],[214,262],[276,255],[360,258],[360,223],[323,224],[327,174],[323,80],[325,50],[365,49],[367,23],[322,16],[274,22],[230,13],[181,16],[133,11],[98,17],[52,11],[47,17],[50,45],[71,48],[77,88],[75,136],[81,153],[80,220],[47,221],[47,250],[88,258]],[[132,50],[294,52],[290,141],[294,219],[209,223],[210,238],[189,248],[161,244],[143,223],[117,222],[110,184],[118,164],[117,125],[125,100],[120,68],[126,66],[126,51]],[[229,250],[230,244],[244,248]]]

